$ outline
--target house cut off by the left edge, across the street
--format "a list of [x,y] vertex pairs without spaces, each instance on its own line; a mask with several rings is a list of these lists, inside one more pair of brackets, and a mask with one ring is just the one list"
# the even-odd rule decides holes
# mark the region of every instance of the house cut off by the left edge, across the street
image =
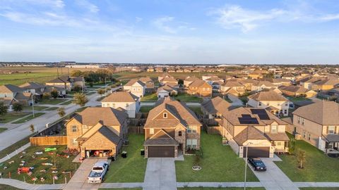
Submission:
[[0,86],[0,102],[4,102],[4,105],[8,106],[8,110],[11,110],[14,102],[21,103],[23,106],[30,106],[32,104],[32,93],[12,84],[5,84]]

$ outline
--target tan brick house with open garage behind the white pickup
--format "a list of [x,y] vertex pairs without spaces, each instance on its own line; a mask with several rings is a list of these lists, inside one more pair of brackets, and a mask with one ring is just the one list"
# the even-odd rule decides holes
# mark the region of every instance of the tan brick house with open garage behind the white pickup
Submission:
[[67,147],[83,158],[117,156],[127,138],[127,117],[114,108],[86,108],[65,124]]

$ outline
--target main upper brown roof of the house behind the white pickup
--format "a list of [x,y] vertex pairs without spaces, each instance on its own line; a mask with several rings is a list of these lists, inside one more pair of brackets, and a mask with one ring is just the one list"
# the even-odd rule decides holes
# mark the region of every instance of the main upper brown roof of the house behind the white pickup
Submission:
[[109,107],[89,107],[72,119],[77,120],[83,125],[94,126],[101,121],[102,125],[117,126],[122,125],[128,117],[123,111]]

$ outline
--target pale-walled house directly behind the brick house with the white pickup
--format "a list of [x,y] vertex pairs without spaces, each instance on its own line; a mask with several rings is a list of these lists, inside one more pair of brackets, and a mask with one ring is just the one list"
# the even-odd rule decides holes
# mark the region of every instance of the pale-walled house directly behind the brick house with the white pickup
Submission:
[[140,98],[126,91],[114,91],[101,101],[102,107],[122,108],[129,118],[136,118],[140,110]]

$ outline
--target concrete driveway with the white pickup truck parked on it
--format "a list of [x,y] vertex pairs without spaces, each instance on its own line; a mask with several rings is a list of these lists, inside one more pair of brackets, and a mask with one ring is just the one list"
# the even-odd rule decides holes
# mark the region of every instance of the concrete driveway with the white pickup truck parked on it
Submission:
[[64,189],[99,189],[100,184],[88,184],[87,177],[99,159],[85,159]]

